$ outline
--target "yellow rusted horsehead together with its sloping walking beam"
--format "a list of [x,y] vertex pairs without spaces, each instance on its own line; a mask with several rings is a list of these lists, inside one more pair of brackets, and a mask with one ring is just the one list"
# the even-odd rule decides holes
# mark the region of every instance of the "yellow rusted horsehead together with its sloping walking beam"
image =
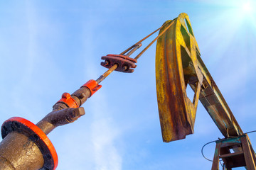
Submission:
[[[166,21],[156,44],[156,92],[164,142],[181,140],[193,133],[198,99],[225,137],[242,130],[200,57],[186,13]],[[193,101],[186,88],[194,91]]]

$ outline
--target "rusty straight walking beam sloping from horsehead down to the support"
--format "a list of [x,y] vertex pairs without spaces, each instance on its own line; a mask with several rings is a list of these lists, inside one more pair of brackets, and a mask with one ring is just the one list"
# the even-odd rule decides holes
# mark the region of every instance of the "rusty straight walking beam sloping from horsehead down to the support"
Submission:
[[200,53],[197,52],[198,68],[203,74],[203,86],[200,94],[200,101],[208,111],[210,117],[217,125],[220,132],[225,137],[242,135],[242,129],[228,107],[213,77],[201,60]]

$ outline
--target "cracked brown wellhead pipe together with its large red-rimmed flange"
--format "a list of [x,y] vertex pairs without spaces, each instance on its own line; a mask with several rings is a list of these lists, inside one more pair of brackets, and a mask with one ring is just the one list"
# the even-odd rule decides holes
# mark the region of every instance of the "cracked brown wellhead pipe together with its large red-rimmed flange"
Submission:
[[1,128],[0,169],[55,169],[58,156],[46,134],[30,121],[10,118]]

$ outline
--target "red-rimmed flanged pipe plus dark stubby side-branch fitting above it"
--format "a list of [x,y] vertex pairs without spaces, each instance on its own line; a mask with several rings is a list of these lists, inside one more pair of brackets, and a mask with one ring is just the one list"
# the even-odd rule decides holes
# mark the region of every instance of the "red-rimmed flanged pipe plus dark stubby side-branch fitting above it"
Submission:
[[49,113],[36,125],[17,117],[6,120],[1,128],[0,169],[55,169],[58,156],[46,135],[60,125],[73,123],[82,115],[85,115],[82,107],[64,108]]

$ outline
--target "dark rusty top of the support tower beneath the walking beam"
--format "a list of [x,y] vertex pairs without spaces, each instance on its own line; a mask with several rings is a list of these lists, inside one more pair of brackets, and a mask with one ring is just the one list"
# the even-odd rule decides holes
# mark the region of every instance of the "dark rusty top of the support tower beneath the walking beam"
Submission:
[[231,137],[216,142],[212,170],[219,169],[222,159],[225,169],[246,166],[248,170],[255,170],[256,157],[247,135]]

